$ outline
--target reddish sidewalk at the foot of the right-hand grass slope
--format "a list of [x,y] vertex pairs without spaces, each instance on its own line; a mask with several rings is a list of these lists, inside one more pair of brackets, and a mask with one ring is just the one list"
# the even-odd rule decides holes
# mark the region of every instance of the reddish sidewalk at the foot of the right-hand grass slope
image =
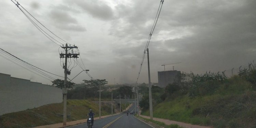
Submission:
[[[143,116],[141,114],[140,114],[140,116],[143,117],[143,118],[150,119],[150,116]],[[183,122],[177,122],[177,121],[173,121],[173,120],[160,119],[160,118],[154,118],[154,117],[153,117],[153,120],[165,123],[166,125],[177,124],[177,125],[185,127],[185,128],[213,128],[211,126],[192,125],[192,124],[187,124],[187,123],[183,123]]]

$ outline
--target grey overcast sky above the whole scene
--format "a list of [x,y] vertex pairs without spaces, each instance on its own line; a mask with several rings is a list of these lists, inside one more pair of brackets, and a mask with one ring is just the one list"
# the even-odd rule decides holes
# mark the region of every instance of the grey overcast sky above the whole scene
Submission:
[[[79,46],[94,79],[136,82],[143,50],[160,0],[20,0],[43,25]],[[35,28],[11,0],[0,1],[1,48],[46,71],[64,76],[59,46]],[[151,82],[157,71],[231,72],[256,56],[255,0],[165,0],[149,44]],[[61,48],[60,48],[61,49]],[[2,54],[2,53],[0,53]],[[82,69],[75,67],[72,79]],[[51,84],[0,57],[0,73]],[[54,78],[60,79],[51,75]],[[90,78],[81,73],[73,81]],[[139,83],[148,83],[147,59]]]

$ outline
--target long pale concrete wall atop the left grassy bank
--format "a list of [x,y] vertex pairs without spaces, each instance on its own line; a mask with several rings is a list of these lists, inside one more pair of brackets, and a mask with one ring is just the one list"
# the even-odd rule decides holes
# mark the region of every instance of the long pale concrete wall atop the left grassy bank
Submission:
[[0,115],[60,102],[59,88],[0,73]]

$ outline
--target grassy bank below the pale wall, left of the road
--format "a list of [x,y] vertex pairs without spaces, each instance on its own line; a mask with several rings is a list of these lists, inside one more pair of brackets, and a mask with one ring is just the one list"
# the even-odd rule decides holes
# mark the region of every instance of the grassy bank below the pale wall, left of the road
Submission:
[[[110,108],[110,109],[109,109]],[[99,116],[99,105],[88,100],[67,100],[67,121],[85,119],[89,109]],[[110,111],[105,111],[110,110]],[[63,103],[54,103],[0,116],[0,128],[35,127],[63,122]],[[111,114],[111,106],[104,106],[101,115]]]

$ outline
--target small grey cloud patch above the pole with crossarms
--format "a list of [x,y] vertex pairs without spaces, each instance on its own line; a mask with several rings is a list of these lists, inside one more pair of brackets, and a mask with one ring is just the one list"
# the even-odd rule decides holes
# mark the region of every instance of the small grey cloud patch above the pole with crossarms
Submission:
[[78,24],[74,17],[63,10],[52,10],[50,17],[57,28],[70,31],[86,31],[83,26]]

